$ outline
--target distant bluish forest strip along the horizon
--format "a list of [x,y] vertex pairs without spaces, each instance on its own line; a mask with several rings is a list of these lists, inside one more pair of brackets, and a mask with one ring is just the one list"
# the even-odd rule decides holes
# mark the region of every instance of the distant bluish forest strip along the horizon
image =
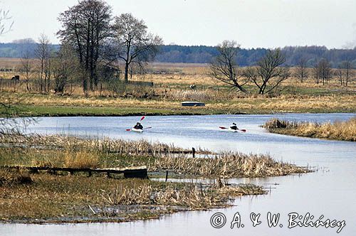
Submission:
[[[21,58],[23,48],[29,48],[31,58],[35,58],[36,42],[33,39],[22,39],[13,43],[0,43],[0,58]],[[60,45],[51,45],[53,50],[59,50]],[[184,45],[159,45],[155,57],[158,63],[210,63],[218,55],[216,46],[184,46]],[[255,65],[268,48],[240,48],[236,62],[241,66]],[[332,68],[337,68],[342,61],[350,60],[356,67],[355,49],[328,49],[325,46],[288,46],[281,48],[286,55],[286,64],[298,65],[300,59],[306,60],[307,67],[311,68],[321,59],[330,62]]]

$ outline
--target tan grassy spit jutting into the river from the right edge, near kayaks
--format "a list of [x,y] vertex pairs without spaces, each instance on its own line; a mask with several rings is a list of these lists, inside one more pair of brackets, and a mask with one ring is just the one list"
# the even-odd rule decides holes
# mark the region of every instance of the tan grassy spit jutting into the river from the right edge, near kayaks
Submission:
[[264,126],[270,132],[320,139],[356,141],[356,118],[345,122],[290,122],[271,119]]

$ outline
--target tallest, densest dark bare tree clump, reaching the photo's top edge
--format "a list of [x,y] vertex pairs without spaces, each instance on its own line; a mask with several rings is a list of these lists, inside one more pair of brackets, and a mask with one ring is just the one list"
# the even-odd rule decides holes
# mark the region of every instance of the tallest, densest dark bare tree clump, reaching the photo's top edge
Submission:
[[[80,65],[85,71],[83,90],[98,85],[97,67],[102,56],[101,47],[112,35],[111,7],[102,0],[82,0],[58,17],[63,30],[58,31],[62,44],[70,44],[78,55]],[[88,81],[89,79],[89,81]]]

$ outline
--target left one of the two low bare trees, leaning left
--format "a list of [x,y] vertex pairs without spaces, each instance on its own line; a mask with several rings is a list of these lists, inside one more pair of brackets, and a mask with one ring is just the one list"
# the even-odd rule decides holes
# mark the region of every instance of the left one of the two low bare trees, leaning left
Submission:
[[211,77],[241,92],[247,92],[244,89],[246,81],[243,81],[241,76],[239,76],[238,65],[236,63],[236,54],[239,50],[239,45],[237,45],[236,41],[223,41],[216,48],[219,55],[211,61]]

